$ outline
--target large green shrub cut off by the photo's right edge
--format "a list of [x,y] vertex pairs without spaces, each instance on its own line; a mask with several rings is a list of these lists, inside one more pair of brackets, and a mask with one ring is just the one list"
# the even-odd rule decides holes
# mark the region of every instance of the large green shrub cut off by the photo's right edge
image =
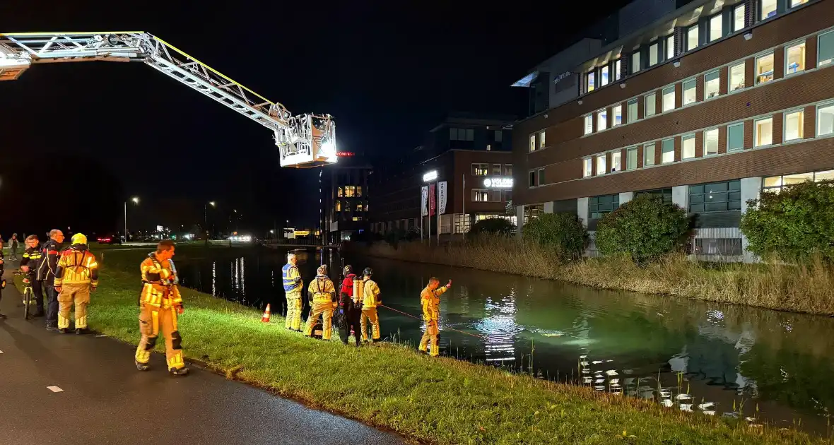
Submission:
[[801,183],[747,202],[741,232],[759,256],[834,261],[834,181]]

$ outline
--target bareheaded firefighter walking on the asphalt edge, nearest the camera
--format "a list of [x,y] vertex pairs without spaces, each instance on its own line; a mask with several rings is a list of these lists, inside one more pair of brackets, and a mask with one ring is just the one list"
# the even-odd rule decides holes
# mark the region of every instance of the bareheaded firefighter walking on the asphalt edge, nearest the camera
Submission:
[[185,307],[177,288],[177,273],[171,260],[173,251],[173,241],[163,239],[157,244],[156,252],[148,253],[148,258],[139,265],[143,283],[139,297],[142,338],[136,348],[135,364],[139,371],[148,371],[151,351],[162,329],[168,373],[185,376],[188,368],[183,362],[183,338],[177,329],[177,316],[185,311]]

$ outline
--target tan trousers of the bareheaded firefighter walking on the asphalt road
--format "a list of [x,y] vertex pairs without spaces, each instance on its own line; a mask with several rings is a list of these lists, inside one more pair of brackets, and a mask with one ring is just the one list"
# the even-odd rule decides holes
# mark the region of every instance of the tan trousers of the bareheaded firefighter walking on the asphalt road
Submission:
[[177,308],[168,307],[163,303],[163,308],[151,304],[142,303],[139,313],[139,331],[142,339],[136,348],[136,361],[148,363],[151,358],[151,351],[156,346],[159,336],[159,328],[165,337],[165,361],[168,363],[168,370],[184,368],[183,362],[183,338],[177,330]]

